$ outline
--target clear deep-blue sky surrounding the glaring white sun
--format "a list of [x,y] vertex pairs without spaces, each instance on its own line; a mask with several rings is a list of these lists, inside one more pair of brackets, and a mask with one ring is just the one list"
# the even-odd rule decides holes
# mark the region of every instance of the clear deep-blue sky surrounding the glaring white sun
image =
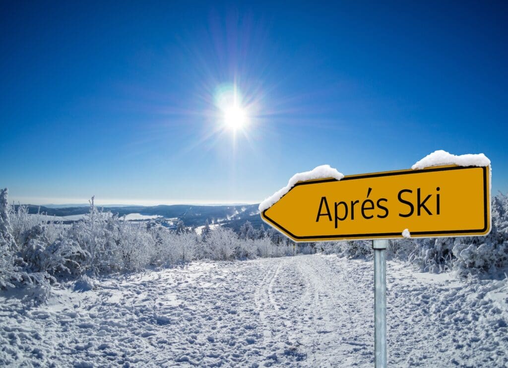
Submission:
[[505,4],[68,3],[1,5],[11,199],[256,203],[320,164],[407,169],[436,149],[485,153],[508,191]]

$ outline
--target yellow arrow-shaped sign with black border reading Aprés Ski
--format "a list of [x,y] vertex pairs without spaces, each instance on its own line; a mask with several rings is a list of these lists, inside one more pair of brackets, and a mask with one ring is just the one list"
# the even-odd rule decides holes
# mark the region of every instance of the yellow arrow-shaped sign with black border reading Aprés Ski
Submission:
[[261,213],[297,242],[481,236],[490,231],[490,167],[300,181]]

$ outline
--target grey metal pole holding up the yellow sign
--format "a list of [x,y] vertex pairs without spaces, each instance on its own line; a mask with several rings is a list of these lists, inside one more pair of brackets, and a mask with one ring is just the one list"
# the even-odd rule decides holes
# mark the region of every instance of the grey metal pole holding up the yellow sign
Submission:
[[374,366],[386,368],[386,248],[388,240],[374,240]]

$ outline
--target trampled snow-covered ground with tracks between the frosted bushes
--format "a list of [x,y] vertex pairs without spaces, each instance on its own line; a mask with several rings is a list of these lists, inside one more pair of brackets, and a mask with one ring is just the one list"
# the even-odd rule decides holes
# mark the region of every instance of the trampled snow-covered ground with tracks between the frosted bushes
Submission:
[[[201,262],[26,310],[0,294],[0,365],[372,366],[372,268],[333,255]],[[388,283],[389,365],[508,364],[502,282],[389,262]]]

